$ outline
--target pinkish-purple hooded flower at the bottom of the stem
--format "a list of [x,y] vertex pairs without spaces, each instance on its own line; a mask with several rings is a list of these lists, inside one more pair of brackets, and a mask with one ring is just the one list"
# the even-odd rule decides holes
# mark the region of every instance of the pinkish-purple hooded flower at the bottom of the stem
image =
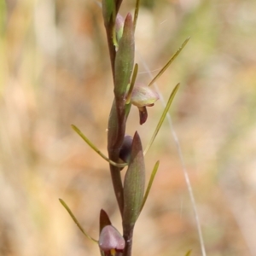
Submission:
[[112,225],[107,225],[102,229],[99,239],[99,247],[104,253],[122,251],[125,248],[125,239]]

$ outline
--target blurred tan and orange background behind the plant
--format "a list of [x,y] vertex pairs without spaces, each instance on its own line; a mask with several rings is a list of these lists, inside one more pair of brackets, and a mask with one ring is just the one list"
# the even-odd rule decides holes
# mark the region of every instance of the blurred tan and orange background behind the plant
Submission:
[[[120,13],[133,13],[125,1]],[[102,10],[90,0],[0,3],[0,255],[99,255],[58,201],[98,238],[101,208],[121,227],[108,164],[71,129],[107,154],[113,82]],[[142,0],[138,80],[158,80],[167,99],[178,82],[172,122],[195,193],[208,256],[256,255],[256,2]],[[145,147],[163,107],[127,133]],[[133,254],[201,255],[183,167],[164,123],[146,156],[159,172],[135,229]]]

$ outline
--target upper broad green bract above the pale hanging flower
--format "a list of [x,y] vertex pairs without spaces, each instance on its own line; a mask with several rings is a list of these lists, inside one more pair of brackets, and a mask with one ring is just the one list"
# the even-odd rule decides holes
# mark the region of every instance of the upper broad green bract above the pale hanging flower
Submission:
[[121,102],[125,108],[125,94],[130,84],[134,65],[134,32],[131,14],[125,19],[124,32],[119,40],[119,49],[114,62],[114,95],[117,103]]

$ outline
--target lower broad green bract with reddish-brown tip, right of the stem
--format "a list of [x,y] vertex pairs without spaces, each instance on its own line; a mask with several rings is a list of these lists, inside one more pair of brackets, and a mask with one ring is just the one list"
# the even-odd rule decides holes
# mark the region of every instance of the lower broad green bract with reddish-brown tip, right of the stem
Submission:
[[124,213],[125,230],[133,227],[140,213],[145,187],[145,163],[141,139],[136,131],[131,145],[131,160],[125,173]]

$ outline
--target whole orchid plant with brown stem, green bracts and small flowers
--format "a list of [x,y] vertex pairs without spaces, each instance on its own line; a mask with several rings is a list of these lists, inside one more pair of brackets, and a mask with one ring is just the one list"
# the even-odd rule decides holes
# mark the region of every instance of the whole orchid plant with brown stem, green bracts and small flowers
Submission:
[[[115,229],[104,210],[100,212],[99,218],[99,239],[90,237],[81,227],[73,212],[67,204],[60,199],[63,207],[67,209],[79,229],[92,241],[96,241],[102,256],[119,255],[131,256],[132,237],[137,218],[143,210],[147,201],[149,191],[154,181],[154,176],[158,170],[160,162],[157,161],[149,178],[147,188],[145,188],[145,164],[144,155],[154,142],[160,126],[166,118],[172,100],[177,93],[179,84],[175,86],[166,104],[166,108],[160,116],[154,134],[143,151],[141,138],[136,131],[133,137],[125,134],[126,122],[131,110],[131,105],[138,108],[139,123],[143,125],[148,119],[147,107],[154,106],[154,102],[159,99],[159,95],[151,87],[166,71],[172,61],[181,52],[187,38],[177,52],[152,79],[149,84],[137,83],[138,65],[134,63],[135,42],[134,32],[137,25],[139,12],[139,0],[137,0],[135,13],[132,17],[130,13],[123,18],[119,15],[122,0],[102,0],[102,15],[106,28],[108,51],[113,75],[113,105],[108,119],[108,156],[96,148],[90,140],[84,136],[78,127],[72,125],[80,137],[90,148],[108,161],[112,185],[119,212],[122,219],[123,230]],[[123,170],[123,171],[122,171]],[[120,172],[125,172],[122,180]],[[189,253],[187,253],[189,255]]]

